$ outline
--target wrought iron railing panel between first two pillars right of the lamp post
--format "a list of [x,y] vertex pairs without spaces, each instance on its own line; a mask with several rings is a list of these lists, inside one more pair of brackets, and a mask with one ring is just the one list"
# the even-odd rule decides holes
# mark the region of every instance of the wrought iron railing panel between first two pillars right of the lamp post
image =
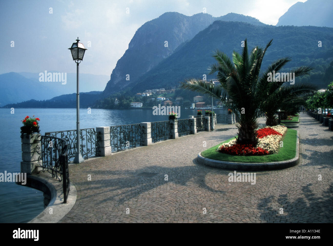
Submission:
[[143,129],[140,124],[111,126],[110,142],[112,151],[122,151],[143,145]]

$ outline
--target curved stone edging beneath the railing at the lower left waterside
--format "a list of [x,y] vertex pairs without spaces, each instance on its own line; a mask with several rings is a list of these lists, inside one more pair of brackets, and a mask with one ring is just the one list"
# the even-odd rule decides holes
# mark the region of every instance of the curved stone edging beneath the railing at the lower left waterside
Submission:
[[[44,197],[50,197],[50,202],[47,207],[28,223],[57,223],[76,203],[77,190],[73,183],[70,184],[67,203],[63,203],[64,193],[62,182],[52,178],[52,176],[47,173],[41,173],[38,176],[27,175],[27,184],[25,186],[43,191]],[[52,208],[52,214],[50,214],[50,208]]]

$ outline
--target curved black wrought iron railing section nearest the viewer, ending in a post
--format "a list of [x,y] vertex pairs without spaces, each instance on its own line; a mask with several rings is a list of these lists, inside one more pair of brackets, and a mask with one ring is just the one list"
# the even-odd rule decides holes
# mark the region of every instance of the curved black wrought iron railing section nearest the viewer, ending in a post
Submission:
[[63,181],[64,203],[69,193],[68,142],[64,139],[41,136],[41,147],[37,146],[40,172],[48,171],[53,178]]

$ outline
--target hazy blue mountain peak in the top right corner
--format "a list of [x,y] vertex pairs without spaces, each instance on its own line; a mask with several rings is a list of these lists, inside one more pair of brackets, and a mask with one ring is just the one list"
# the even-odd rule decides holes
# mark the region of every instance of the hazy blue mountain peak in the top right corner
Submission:
[[279,18],[277,26],[326,26],[333,27],[333,1],[308,0],[297,2]]

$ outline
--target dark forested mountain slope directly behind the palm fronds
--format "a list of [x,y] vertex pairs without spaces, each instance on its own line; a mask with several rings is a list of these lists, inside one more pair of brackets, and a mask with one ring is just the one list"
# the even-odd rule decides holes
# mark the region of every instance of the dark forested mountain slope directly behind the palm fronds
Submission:
[[[318,37],[322,47],[318,47]],[[214,78],[208,75],[207,67],[215,60],[212,51],[219,49],[231,57],[232,51],[242,51],[241,41],[247,38],[248,47],[265,46],[273,38],[273,44],[267,50],[262,68],[266,69],[274,60],[291,56],[292,61],[285,69],[295,66],[328,66],[326,59],[333,57],[333,28],[314,26],[255,26],[241,22],[215,21],[200,31],[192,40],[186,42],[172,55],[137,79],[131,92],[146,89],[164,88],[179,85],[185,78]],[[312,62],[320,59],[322,64]],[[319,68],[318,68],[319,69]],[[285,70],[286,71],[286,70]],[[326,87],[327,81],[318,78],[317,84]]]

